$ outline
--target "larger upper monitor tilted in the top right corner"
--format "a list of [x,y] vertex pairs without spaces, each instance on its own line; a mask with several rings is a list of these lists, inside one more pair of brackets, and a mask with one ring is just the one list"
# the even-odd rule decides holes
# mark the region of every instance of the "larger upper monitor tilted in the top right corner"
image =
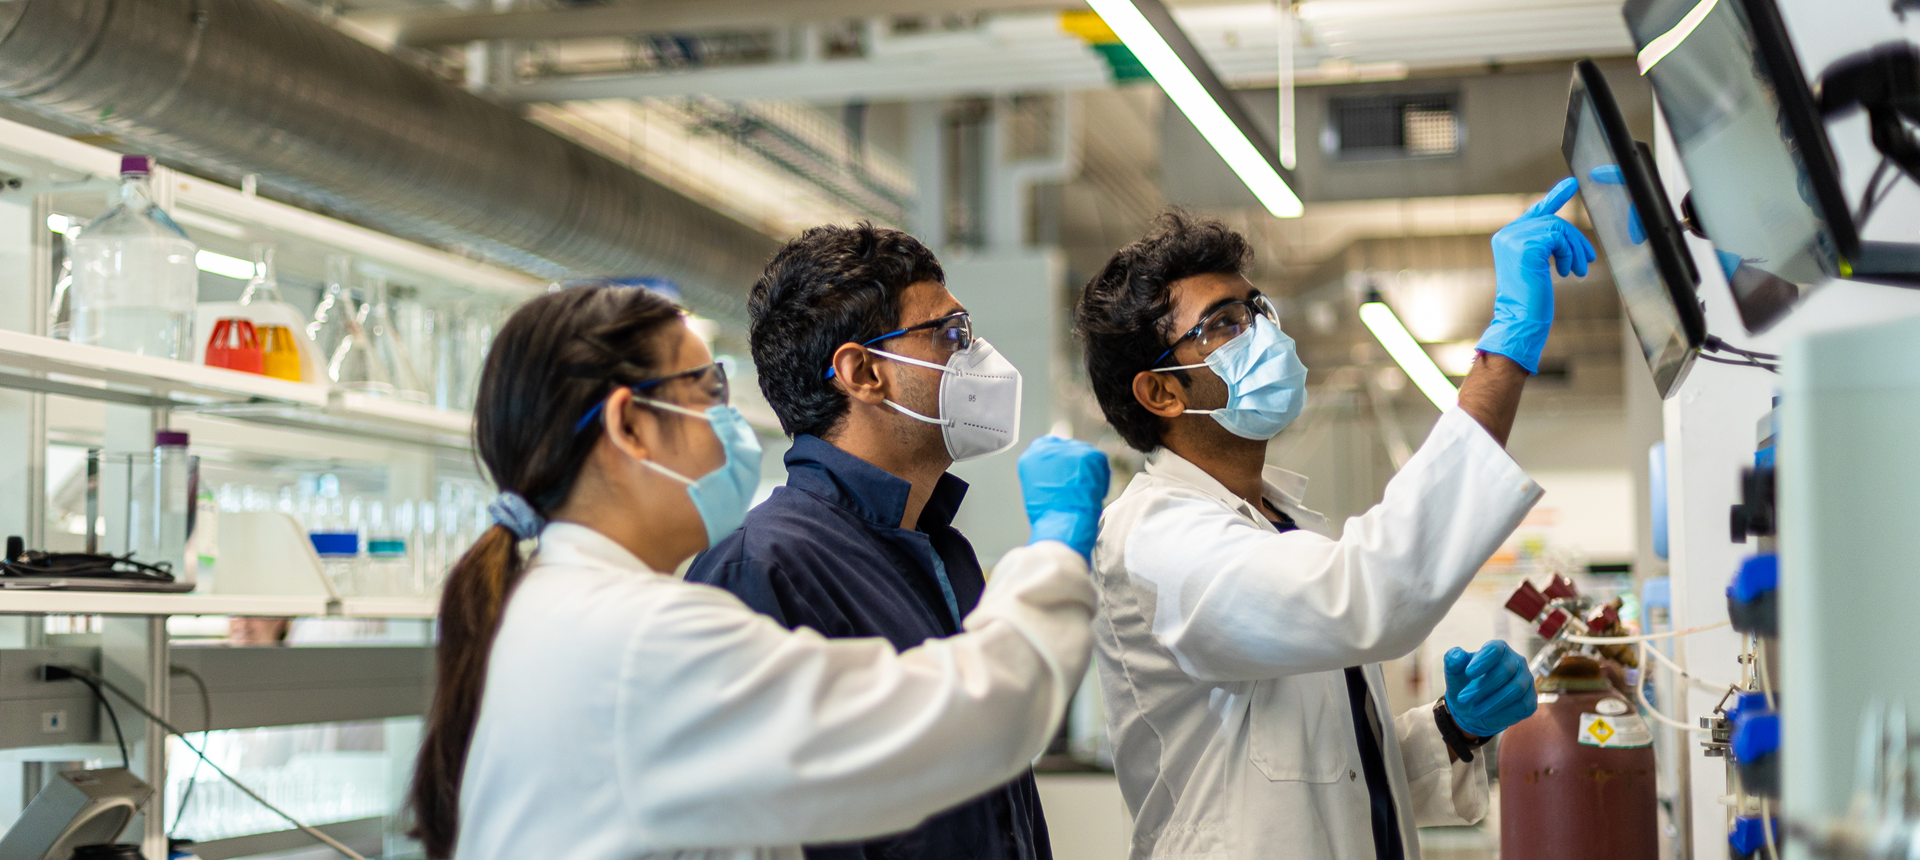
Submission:
[[1628,0],[1699,228],[1720,251],[1740,321],[1778,322],[1843,276],[1860,238],[1818,106],[1772,0]]

